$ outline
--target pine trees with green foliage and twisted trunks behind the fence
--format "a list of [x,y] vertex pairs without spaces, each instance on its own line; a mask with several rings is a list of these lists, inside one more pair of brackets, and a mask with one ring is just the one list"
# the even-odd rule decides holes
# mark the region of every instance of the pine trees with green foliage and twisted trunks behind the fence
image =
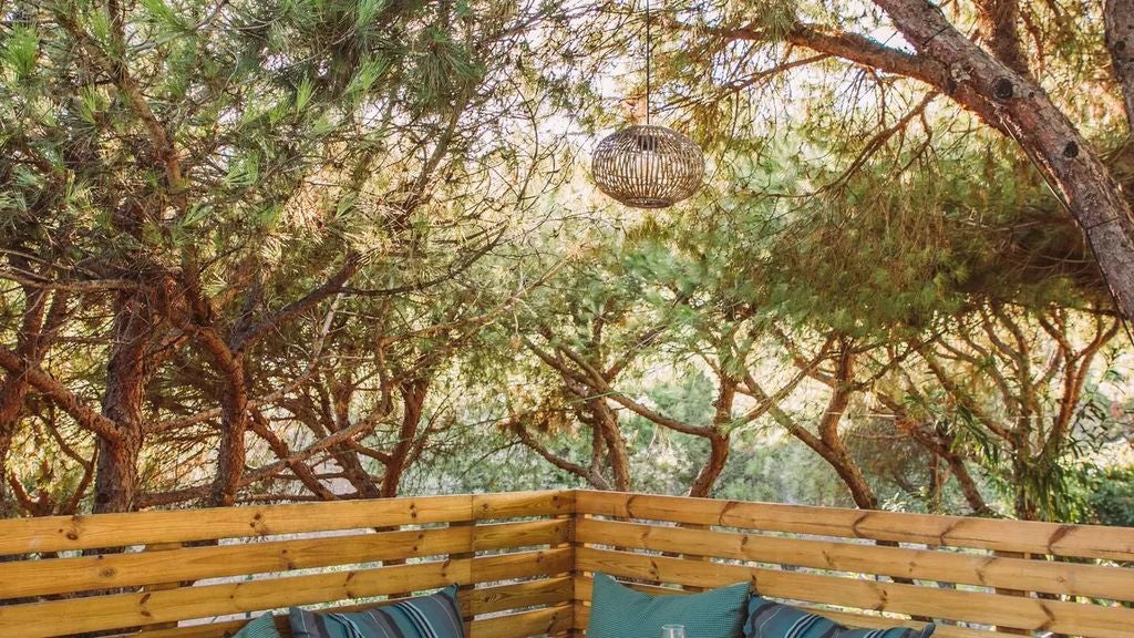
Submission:
[[643,115],[641,3],[0,0],[0,515],[1134,524],[1134,2],[654,5],[708,175],[644,212],[587,162]]

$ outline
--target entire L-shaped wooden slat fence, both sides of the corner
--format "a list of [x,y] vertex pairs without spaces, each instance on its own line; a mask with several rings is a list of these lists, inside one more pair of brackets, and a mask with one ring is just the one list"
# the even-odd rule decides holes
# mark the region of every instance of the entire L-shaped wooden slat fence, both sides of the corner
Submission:
[[219,638],[454,582],[473,638],[560,636],[598,571],[943,638],[1134,637],[1134,529],[1094,526],[558,490],[6,520],[0,556],[0,629],[31,637]]

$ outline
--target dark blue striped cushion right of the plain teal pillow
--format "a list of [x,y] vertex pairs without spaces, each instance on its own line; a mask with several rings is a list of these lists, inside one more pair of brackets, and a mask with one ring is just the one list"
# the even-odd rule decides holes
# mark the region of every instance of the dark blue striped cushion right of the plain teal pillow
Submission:
[[798,607],[753,596],[748,601],[744,638],[929,638],[934,629],[933,623],[923,629],[848,629]]

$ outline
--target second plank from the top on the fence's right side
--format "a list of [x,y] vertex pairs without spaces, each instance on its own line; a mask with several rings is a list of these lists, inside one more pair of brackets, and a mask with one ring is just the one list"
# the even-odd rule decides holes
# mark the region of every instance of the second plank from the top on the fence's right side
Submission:
[[584,543],[760,563],[1134,601],[1134,569],[581,520]]

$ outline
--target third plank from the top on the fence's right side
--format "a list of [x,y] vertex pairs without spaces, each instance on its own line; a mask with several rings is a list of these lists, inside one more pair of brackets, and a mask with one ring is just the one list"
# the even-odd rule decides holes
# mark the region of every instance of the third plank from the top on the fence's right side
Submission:
[[874,612],[943,618],[1033,631],[1128,638],[1134,608],[1015,598],[916,585],[818,576],[585,548],[578,569],[678,585],[720,587],[750,580],[763,595]]

